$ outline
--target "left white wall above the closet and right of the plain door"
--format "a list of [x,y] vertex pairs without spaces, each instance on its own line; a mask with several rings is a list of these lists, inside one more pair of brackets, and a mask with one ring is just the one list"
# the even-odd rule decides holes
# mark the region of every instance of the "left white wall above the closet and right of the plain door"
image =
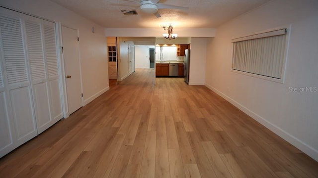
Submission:
[[49,0],[0,0],[0,4],[79,30],[84,104],[109,89],[104,28]]

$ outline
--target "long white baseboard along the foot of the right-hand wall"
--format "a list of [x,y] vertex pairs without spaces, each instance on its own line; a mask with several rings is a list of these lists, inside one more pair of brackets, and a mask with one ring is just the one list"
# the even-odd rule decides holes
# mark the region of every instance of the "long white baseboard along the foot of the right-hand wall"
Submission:
[[208,89],[211,89],[212,91],[214,91],[217,94],[219,94],[221,97],[223,97],[224,99],[226,99],[227,101],[229,101],[233,105],[235,105],[237,108],[239,108],[245,114],[249,115],[251,118],[253,118],[257,122],[259,122],[260,124],[265,126],[267,129],[271,130],[273,133],[279,135],[280,137],[282,137],[283,139],[285,139],[286,141],[288,141],[289,143],[291,143],[292,145],[294,145],[295,147],[297,147],[298,149],[300,149],[301,151],[303,151],[304,153],[306,153],[307,155],[309,155],[310,157],[312,157],[313,159],[318,161],[318,150],[316,150],[312,146],[306,144],[305,142],[303,142],[302,140],[296,138],[295,136],[287,133],[286,131],[282,130],[278,126],[272,124],[271,122],[269,122],[265,118],[259,116],[258,114],[254,113],[253,111],[249,110],[248,108],[246,108],[245,106],[241,105],[239,102],[237,102],[234,99],[230,98],[226,94],[222,93],[218,89],[215,89],[215,88],[213,88],[212,86],[210,86],[208,84],[205,84],[205,86]]

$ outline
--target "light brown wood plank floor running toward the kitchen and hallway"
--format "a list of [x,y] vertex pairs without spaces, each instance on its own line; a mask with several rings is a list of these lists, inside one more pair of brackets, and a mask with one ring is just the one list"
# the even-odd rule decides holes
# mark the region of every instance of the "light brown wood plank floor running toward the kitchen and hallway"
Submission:
[[204,86],[137,70],[0,159],[0,178],[318,178],[318,163]]

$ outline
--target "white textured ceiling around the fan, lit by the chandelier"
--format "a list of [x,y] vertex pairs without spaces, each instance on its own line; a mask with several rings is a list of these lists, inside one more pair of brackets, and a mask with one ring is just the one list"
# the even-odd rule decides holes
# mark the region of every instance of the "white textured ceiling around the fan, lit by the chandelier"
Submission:
[[215,28],[270,0],[160,0],[160,3],[188,7],[186,11],[159,9],[161,15],[124,15],[121,10],[138,8],[126,0],[51,0],[105,28]]

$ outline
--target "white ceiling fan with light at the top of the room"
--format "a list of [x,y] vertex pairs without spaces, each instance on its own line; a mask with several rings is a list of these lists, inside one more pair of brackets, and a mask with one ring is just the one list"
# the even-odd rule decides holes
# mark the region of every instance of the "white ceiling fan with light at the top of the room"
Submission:
[[125,1],[139,3],[140,7],[133,8],[130,10],[125,10],[125,11],[122,11],[122,13],[127,13],[127,12],[130,12],[132,10],[140,9],[142,12],[154,14],[158,18],[161,17],[161,15],[158,12],[158,9],[181,9],[181,10],[188,9],[188,7],[160,3],[159,2],[160,0],[140,0],[140,1],[138,1],[138,0],[125,0]]

